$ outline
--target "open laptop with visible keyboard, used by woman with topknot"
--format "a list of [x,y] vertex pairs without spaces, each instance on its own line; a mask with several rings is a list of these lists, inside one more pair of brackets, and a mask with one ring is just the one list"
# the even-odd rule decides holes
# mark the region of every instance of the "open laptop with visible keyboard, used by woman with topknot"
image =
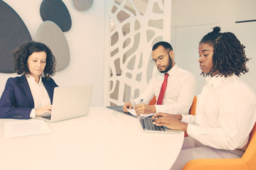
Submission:
[[[130,96],[130,102],[132,103],[132,107],[136,106],[137,104],[134,101],[134,98],[132,95]],[[145,117],[145,116],[137,116],[139,119],[139,123],[141,123],[142,128],[144,132],[168,132],[168,133],[179,133],[180,130],[171,130],[169,128],[165,128],[163,126],[157,126],[154,125],[151,116],[150,117]]]

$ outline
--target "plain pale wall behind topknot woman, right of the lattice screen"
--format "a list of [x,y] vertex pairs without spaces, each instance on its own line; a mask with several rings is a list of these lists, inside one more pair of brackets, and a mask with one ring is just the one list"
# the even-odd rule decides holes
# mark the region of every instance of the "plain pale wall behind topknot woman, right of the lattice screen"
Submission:
[[245,45],[247,57],[252,58],[249,73],[242,76],[256,92],[256,22],[235,23],[256,19],[255,0],[173,0],[171,45],[179,67],[195,74],[200,94],[205,79],[200,76],[198,43],[203,35],[220,26],[221,32],[232,32]]

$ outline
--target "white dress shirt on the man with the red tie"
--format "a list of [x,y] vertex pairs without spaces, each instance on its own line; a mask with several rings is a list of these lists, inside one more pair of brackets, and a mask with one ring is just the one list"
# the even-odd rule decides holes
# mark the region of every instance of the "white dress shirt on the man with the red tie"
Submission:
[[[162,105],[156,106],[156,113],[172,113],[187,115],[196,90],[196,78],[185,69],[181,69],[177,64],[172,67],[167,79],[166,92]],[[161,85],[164,81],[164,73],[159,71],[154,74],[149,81],[149,85],[139,98],[135,98],[136,103],[149,103],[151,99],[159,96]]]

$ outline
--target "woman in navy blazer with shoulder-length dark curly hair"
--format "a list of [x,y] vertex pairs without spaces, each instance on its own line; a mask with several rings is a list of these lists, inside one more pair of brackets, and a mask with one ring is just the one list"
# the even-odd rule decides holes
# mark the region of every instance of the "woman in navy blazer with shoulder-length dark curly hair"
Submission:
[[0,99],[0,118],[28,119],[49,115],[57,86],[55,57],[41,42],[25,42],[14,51],[14,70],[21,77],[9,78]]

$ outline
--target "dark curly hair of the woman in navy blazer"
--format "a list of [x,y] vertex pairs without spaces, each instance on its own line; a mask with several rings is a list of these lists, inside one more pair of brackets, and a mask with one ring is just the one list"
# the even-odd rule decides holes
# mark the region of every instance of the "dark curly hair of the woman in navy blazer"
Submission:
[[33,52],[46,52],[46,67],[43,70],[42,77],[50,78],[55,75],[55,57],[49,47],[41,42],[24,42],[14,52],[14,71],[17,74],[30,74],[28,69],[28,57]]

